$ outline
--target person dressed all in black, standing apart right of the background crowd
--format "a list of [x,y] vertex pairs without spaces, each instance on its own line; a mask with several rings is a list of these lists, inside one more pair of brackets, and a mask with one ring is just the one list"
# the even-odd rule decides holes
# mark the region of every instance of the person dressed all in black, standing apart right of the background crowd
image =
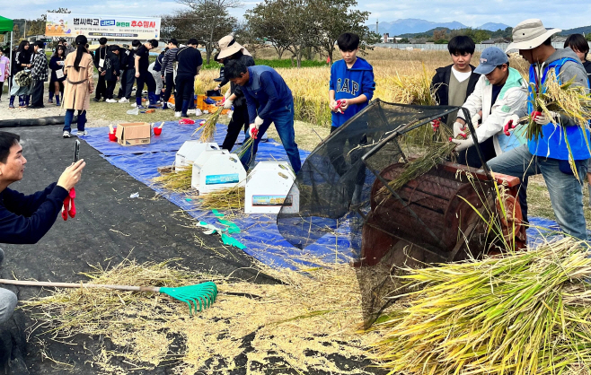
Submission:
[[176,71],[177,97],[174,98],[174,117],[188,118],[187,110],[190,102],[194,101],[195,95],[195,77],[199,74],[203,57],[197,49],[197,39],[191,38],[187,42],[187,47],[179,48],[176,54],[178,62]]

